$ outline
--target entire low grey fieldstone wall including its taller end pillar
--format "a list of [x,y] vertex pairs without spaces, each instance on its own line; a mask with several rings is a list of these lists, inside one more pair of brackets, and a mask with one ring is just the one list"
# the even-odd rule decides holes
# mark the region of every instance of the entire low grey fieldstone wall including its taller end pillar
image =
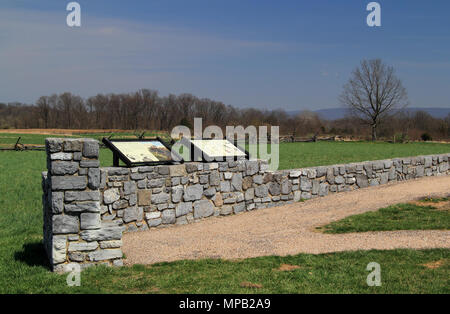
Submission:
[[100,168],[95,140],[47,139],[46,146],[44,244],[56,271],[122,265],[124,231],[450,174],[450,154],[271,172],[261,160]]

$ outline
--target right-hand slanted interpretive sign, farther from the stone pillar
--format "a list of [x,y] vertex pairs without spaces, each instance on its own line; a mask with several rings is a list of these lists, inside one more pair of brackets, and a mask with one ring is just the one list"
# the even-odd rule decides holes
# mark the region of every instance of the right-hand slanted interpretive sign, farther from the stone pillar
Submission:
[[249,159],[243,148],[227,139],[188,139],[181,143],[190,149],[192,161],[221,161],[225,159]]

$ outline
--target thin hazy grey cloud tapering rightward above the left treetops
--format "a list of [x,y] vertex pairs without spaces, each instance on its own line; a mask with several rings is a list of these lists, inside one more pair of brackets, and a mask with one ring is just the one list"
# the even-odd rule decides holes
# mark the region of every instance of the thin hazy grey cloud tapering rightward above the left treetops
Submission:
[[283,43],[87,15],[80,28],[69,28],[65,17],[64,11],[2,9],[2,101],[34,102],[66,90],[83,96],[144,86],[174,90],[188,86],[186,71],[207,68],[215,59],[290,49]]

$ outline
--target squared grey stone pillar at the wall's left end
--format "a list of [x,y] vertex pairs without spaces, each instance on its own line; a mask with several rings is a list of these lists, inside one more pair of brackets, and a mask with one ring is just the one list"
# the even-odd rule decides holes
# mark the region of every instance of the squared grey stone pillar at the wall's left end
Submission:
[[69,271],[72,263],[121,265],[123,230],[101,222],[98,142],[48,138],[45,144],[44,247],[52,269]]

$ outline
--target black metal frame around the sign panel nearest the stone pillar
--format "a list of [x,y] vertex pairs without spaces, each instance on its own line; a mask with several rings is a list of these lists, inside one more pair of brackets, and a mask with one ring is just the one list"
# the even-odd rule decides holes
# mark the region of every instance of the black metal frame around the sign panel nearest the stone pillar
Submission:
[[[164,147],[166,147],[172,154],[174,154],[179,160],[161,160],[161,161],[144,161],[144,162],[133,162],[125,154],[122,153],[115,145],[114,142],[150,142],[157,141],[160,142]],[[143,138],[143,139],[113,139],[110,140],[106,137],[102,139],[102,142],[113,152],[113,166],[119,167],[119,159],[122,160],[127,167],[136,166],[157,166],[157,165],[172,165],[174,163],[183,163],[183,158],[176,152],[172,152],[172,147],[170,147],[166,142],[164,142],[160,137],[156,138]]]

